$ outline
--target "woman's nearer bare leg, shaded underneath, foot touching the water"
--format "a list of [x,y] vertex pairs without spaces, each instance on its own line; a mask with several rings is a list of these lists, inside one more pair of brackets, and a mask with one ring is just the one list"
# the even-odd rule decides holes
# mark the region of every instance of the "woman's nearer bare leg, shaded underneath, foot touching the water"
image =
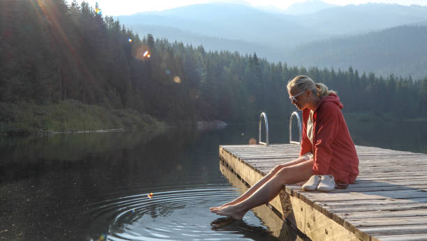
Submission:
[[218,207],[212,212],[217,215],[229,216],[241,219],[248,210],[267,203],[278,195],[284,184],[301,182],[307,180],[313,173],[313,160],[283,167],[273,177],[258,188],[252,195],[239,203]]

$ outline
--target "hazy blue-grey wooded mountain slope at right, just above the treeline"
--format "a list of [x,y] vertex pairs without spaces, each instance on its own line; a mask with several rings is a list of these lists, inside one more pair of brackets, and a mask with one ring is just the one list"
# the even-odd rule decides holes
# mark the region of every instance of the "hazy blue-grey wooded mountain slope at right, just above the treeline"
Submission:
[[361,36],[312,42],[288,53],[288,65],[349,66],[377,75],[427,77],[427,26],[398,26]]

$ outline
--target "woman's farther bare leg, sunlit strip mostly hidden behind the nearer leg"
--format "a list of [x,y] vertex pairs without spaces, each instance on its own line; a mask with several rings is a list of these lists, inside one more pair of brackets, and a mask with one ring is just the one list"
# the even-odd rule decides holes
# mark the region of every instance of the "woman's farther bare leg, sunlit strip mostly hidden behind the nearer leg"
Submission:
[[220,205],[218,207],[212,207],[212,208],[210,208],[210,210],[213,211],[213,210],[216,210],[218,208],[225,207],[227,205],[233,205],[236,203],[240,203],[241,201],[244,201],[250,195],[252,195],[254,192],[256,192],[257,189],[262,187],[262,185],[264,185],[265,182],[267,182],[268,180],[273,178],[276,175],[276,173],[278,173],[278,171],[280,171],[281,169],[283,169],[286,166],[293,166],[295,164],[299,164],[299,163],[304,162],[304,161],[306,161],[306,159],[304,159],[304,157],[299,157],[296,160],[293,160],[291,162],[287,162],[285,164],[279,164],[279,165],[275,166],[274,169],[271,169],[271,171],[266,176],[264,176],[263,178],[258,180],[257,183],[255,183],[255,185],[250,187],[244,194],[241,194],[237,199],[234,199],[233,201],[230,201],[228,203],[224,203],[223,205]]

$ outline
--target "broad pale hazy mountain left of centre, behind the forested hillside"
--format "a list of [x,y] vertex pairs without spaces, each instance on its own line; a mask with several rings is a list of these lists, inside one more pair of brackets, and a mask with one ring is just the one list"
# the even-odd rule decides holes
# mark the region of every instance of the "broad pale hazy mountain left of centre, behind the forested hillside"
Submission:
[[237,4],[197,4],[119,16],[118,19],[130,28],[137,24],[168,26],[204,36],[245,40],[280,49],[327,37],[316,29],[303,26],[290,15],[267,13]]

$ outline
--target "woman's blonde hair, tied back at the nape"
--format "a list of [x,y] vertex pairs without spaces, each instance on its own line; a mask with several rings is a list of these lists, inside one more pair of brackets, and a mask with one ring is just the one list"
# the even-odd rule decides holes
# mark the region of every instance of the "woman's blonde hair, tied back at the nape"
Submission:
[[315,83],[313,79],[306,75],[298,75],[294,79],[287,81],[287,91],[298,88],[299,91],[310,90],[319,95],[319,97],[329,95],[330,93],[336,94],[336,91],[329,90],[328,87],[322,83]]

